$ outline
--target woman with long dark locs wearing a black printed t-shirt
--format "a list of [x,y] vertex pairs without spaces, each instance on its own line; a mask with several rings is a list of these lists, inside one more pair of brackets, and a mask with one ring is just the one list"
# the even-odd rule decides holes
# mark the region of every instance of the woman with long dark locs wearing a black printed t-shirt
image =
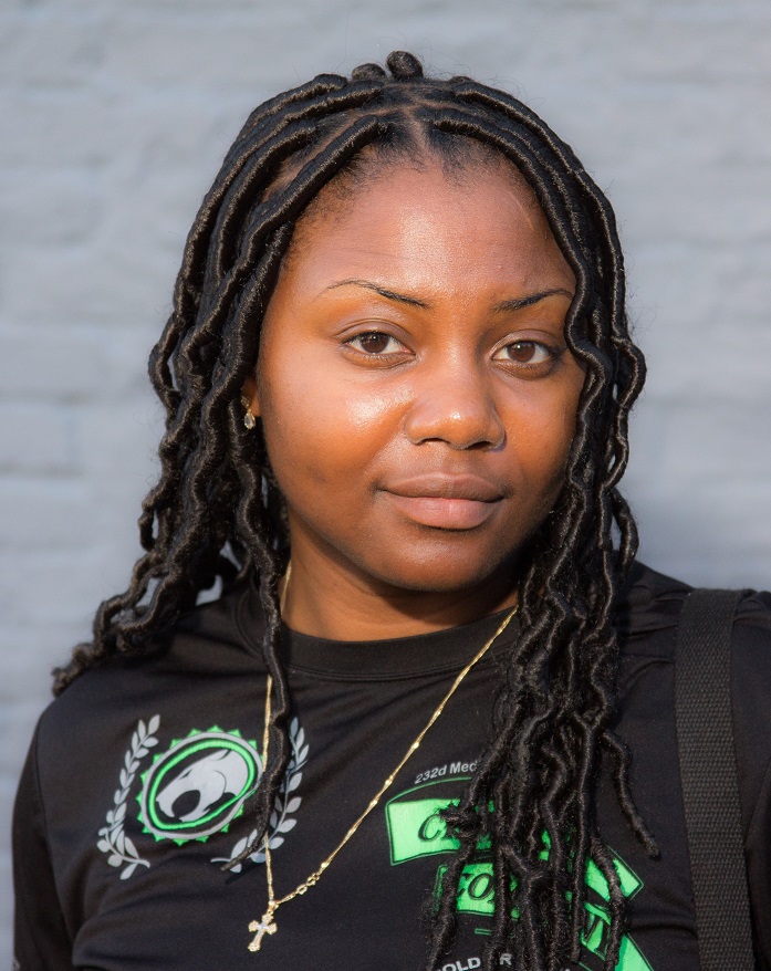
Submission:
[[[146,553],[20,787],[22,969],[698,968],[688,588],[616,489],[644,363],[612,210],[521,103],[387,64],[259,107],[192,227]],[[740,740],[770,646],[748,596]]]

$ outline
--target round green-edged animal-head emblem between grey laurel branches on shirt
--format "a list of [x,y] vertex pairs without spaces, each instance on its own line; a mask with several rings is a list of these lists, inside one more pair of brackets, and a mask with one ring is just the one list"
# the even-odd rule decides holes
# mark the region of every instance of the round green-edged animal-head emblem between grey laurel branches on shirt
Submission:
[[190,732],[142,776],[139,822],[156,839],[206,841],[227,829],[261,775],[254,742],[238,731]]

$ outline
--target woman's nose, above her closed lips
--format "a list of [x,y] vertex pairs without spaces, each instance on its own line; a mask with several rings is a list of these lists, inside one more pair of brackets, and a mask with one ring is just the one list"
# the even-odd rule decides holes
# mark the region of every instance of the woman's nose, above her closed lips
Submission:
[[506,440],[489,378],[468,363],[420,375],[405,434],[414,445],[442,441],[457,450],[499,448]]

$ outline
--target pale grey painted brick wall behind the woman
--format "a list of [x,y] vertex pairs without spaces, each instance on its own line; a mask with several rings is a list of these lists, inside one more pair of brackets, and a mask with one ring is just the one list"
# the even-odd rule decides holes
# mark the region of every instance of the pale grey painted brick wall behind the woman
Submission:
[[771,585],[768,0],[0,0],[4,967],[15,780],[49,669],[138,551],[145,359],[197,203],[253,105],[404,48],[517,93],[615,205],[644,558]]

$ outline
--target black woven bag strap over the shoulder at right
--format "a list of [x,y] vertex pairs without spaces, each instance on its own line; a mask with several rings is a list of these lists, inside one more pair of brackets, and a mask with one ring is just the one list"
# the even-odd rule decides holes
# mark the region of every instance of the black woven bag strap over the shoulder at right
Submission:
[[752,971],[752,930],[731,717],[731,629],[742,591],[683,607],[675,707],[701,971]]

